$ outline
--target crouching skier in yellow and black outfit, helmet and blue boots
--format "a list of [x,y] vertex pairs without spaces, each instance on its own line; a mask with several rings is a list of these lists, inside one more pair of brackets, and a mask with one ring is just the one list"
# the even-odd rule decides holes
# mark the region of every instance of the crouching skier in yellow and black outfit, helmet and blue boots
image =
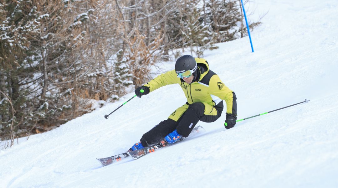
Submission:
[[140,142],[131,147],[131,150],[158,144],[163,139],[175,143],[182,137],[188,137],[199,120],[214,122],[221,116],[223,100],[226,103],[225,128],[235,126],[236,95],[223,84],[216,73],[209,70],[209,64],[205,59],[183,55],[177,59],[175,70],[161,74],[138,87],[135,94],[141,97],[169,84],[179,84],[182,87],[187,103],[176,109],[168,119],[145,133]]

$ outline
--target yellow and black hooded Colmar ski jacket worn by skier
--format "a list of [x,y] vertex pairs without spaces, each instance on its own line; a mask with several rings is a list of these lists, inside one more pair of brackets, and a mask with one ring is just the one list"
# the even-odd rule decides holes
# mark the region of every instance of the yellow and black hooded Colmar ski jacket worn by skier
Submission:
[[150,80],[144,86],[149,87],[152,92],[162,86],[179,84],[187,97],[187,103],[207,102],[218,111],[223,111],[223,101],[226,103],[226,113],[237,116],[237,103],[235,93],[226,87],[219,76],[209,70],[208,62],[203,58],[195,58],[197,69],[197,80],[194,78],[191,84],[177,77],[175,70],[163,73]]

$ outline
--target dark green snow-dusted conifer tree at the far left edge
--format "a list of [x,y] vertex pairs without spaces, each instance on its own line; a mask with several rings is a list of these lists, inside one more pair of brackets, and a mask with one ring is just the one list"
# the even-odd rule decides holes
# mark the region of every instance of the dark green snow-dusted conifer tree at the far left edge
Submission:
[[[28,92],[21,87],[22,79],[33,76],[25,57],[29,54],[30,40],[39,33],[35,12],[36,9],[30,1],[0,1],[0,89],[11,101],[11,105],[13,104],[15,112],[13,117],[9,100],[4,94],[0,94],[0,132],[5,134],[5,139],[9,139],[9,134],[6,135],[9,125],[13,123],[13,129],[18,130],[26,116],[25,102],[29,100],[26,96]],[[17,135],[11,132],[10,136]]]

